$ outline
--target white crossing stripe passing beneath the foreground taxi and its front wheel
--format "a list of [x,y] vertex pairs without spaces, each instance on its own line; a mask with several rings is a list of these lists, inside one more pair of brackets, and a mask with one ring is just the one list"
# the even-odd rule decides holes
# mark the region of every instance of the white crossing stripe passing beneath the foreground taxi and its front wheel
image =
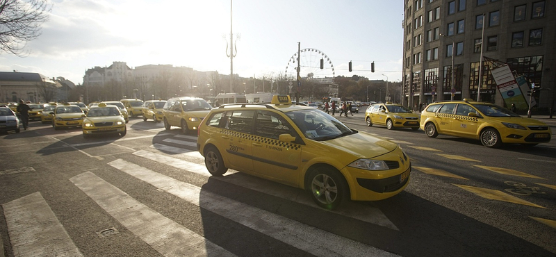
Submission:
[[[199,165],[197,163],[191,163],[186,160],[172,158],[163,154],[154,154],[150,151],[145,150],[137,151],[133,154],[136,156],[147,158],[149,160],[154,160],[159,163],[164,163],[172,167],[177,167],[178,169],[186,169],[188,172],[201,174],[206,177],[211,176],[204,165]],[[237,171],[229,169],[229,171],[224,174],[224,176],[212,176],[211,178],[218,179],[227,183],[232,183],[234,185],[238,185],[250,190],[262,192],[264,194],[270,194],[272,196],[286,199],[288,201],[295,201],[296,203],[303,204],[305,206],[318,208],[316,207],[313,200],[309,197],[309,194],[306,193],[306,191],[304,190],[291,187],[277,187],[275,182],[266,181],[254,176],[229,176],[233,173],[237,173]],[[332,210],[332,212],[347,217],[352,217],[354,219],[359,219],[363,222],[384,226],[389,229],[399,230],[398,227],[395,226],[395,224],[393,224],[391,220],[386,217],[386,215],[384,215],[384,213],[382,213],[382,210],[380,210],[379,208],[363,206],[352,201],[347,201],[345,204],[343,204],[342,208],[340,208],[339,210]]]

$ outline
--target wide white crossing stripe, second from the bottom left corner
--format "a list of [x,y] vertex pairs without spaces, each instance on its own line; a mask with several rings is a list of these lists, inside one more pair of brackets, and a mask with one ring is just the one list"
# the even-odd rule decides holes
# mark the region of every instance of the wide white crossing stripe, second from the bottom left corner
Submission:
[[229,251],[136,201],[92,172],[70,179],[126,229],[163,256],[234,256]]

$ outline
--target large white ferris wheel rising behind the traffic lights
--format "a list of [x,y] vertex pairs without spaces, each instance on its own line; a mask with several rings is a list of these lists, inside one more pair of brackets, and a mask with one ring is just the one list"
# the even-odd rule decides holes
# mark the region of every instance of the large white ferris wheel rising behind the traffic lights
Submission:
[[[334,77],[334,65],[325,52],[314,48],[300,50],[300,76],[303,78],[330,78]],[[320,62],[322,60],[322,69]],[[286,66],[286,78],[296,80],[297,76],[297,53],[294,53]]]

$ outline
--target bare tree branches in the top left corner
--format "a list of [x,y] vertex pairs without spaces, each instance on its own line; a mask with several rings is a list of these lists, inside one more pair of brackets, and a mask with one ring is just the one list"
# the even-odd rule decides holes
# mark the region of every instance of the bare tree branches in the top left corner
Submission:
[[47,0],[0,0],[1,51],[25,56],[27,42],[38,38],[50,11]]

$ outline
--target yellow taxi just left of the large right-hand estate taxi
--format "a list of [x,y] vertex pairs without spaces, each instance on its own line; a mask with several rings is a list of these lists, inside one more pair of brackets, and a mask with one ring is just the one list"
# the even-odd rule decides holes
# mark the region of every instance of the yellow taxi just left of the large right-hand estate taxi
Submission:
[[420,116],[407,107],[395,103],[375,103],[365,111],[367,126],[383,125],[388,129],[419,129]]

